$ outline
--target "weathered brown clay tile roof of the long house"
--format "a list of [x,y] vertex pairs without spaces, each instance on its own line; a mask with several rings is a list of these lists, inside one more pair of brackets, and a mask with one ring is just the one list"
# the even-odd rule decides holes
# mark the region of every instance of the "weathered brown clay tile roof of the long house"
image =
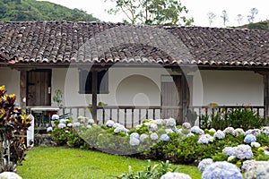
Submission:
[[269,31],[107,22],[0,22],[0,62],[269,66]]

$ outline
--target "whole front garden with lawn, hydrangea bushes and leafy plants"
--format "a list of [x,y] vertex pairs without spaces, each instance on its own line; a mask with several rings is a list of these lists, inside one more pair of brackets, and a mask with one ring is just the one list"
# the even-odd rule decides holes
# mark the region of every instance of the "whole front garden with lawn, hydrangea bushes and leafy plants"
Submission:
[[23,132],[30,118],[14,106],[15,96],[5,93],[1,87],[0,176],[269,178],[269,126],[244,107],[202,115],[200,126],[169,118],[147,119],[134,129],[112,120],[98,125],[84,116],[54,115],[47,132],[56,147],[29,149]]

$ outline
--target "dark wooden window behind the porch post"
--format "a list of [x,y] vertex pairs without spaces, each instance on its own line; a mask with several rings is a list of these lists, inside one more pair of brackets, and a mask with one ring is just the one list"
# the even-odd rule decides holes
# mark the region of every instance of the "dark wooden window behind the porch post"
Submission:
[[[102,70],[97,76],[97,93],[108,94],[108,71]],[[79,93],[92,94],[92,72],[80,69],[79,78]]]

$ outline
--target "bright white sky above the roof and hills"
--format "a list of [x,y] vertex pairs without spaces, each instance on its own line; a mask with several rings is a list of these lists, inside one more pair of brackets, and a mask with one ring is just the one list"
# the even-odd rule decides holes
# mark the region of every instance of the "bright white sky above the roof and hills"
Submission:
[[[78,8],[91,13],[94,17],[101,21],[120,22],[124,19],[124,14],[110,15],[106,10],[115,6],[115,3],[107,0],[48,0],[49,2],[62,4],[69,8]],[[115,1],[115,0],[114,0]],[[212,27],[223,27],[221,19],[222,11],[225,10],[228,14],[229,21],[227,26],[238,26],[247,24],[247,15],[251,8],[256,8],[255,21],[269,20],[269,1],[268,0],[181,0],[183,5],[188,9],[187,17],[193,17],[195,26],[209,27],[207,13],[216,14]],[[243,20],[239,24],[237,15],[242,14]]]

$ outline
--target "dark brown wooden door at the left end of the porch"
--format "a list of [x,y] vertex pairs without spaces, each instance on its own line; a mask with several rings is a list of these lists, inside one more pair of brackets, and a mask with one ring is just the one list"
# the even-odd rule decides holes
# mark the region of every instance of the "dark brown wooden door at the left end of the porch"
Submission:
[[51,70],[27,72],[27,106],[51,105]]

